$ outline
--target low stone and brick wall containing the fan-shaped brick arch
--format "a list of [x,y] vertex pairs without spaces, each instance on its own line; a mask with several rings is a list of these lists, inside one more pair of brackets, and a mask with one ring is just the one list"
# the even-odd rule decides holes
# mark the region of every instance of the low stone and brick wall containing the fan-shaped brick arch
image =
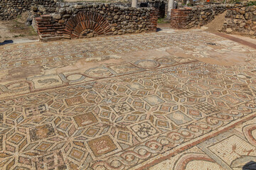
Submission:
[[157,15],[155,8],[61,4],[55,13],[35,19],[41,40],[55,40],[156,31]]

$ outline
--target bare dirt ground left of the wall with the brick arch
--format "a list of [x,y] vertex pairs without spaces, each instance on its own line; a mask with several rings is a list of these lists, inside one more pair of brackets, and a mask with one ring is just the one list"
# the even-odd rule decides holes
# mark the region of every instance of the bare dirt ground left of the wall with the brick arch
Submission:
[[38,39],[38,35],[32,26],[26,26],[27,14],[11,21],[0,21],[0,42],[21,38]]

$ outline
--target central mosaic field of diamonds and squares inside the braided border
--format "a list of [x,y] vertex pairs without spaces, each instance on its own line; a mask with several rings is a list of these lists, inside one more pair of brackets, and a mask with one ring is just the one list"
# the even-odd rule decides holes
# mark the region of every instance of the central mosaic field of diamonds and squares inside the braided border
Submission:
[[[1,131],[0,150],[14,153],[15,148],[19,147],[19,152],[40,153],[39,157],[42,153],[63,149],[61,154],[65,155],[63,159],[68,162],[65,164],[67,167],[97,167],[98,160],[109,166],[109,159],[122,165],[127,160],[133,160],[132,157],[126,157],[129,153],[137,155],[139,150],[141,155],[169,152],[170,147],[177,147],[202,134],[207,135],[215,128],[228,126],[228,122],[242,120],[243,116],[253,113],[249,110],[255,109],[255,101],[252,101],[247,91],[243,91],[245,86],[236,86],[237,81],[218,82],[210,81],[212,78],[209,78],[205,86],[209,84],[211,88],[196,88],[193,85],[198,84],[198,81],[188,81],[202,74],[196,71],[191,75],[195,67],[201,69],[209,65],[196,62],[145,72],[143,76],[132,74],[113,78],[110,82],[98,80],[97,83],[48,90],[47,93],[39,92],[25,100],[26,95],[16,100],[1,100],[6,131]],[[173,72],[174,69],[177,71]],[[220,72],[223,68],[215,69],[220,69]],[[206,73],[206,77],[212,77],[213,74],[215,72],[211,75]],[[160,82],[159,77],[163,81]],[[238,93],[239,88],[242,91]],[[238,98],[242,102],[236,104],[237,108],[230,108],[230,99],[225,96]],[[246,101],[250,103],[243,106]],[[35,106],[33,103],[39,104]],[[10,106],[11,110],[6,109]],[[18,131],[9,128],[16,125],[22,128]],[[253,141],[250,136],[247,135],[248,139]],[[66,141],[68,138],[70,140]],[[7,142],[5,145],[4,140]],[[133,147],[135,145],[137,149]],[[57,154],[54,155],[57,157]],[[116,155],[119,159],[116,159]],[[134,159],[144,160],[146,157]],[[9,160],[7,156],[6,160]],[[29,157],[20,160],[35,161]],[[38,160],[36,162],[48,167]],[[32,163],[28,167],[35,166]],[[62,164],[59,166],[65,167]]]

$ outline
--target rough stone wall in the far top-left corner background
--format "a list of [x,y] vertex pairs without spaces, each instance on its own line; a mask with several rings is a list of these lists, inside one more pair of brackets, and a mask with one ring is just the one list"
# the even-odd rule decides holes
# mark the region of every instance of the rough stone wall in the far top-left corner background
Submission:
[[60,0],[0,0],[0,19],[9,20],[30,11],[31,6],[43,5],[55,8],[56,1]]

